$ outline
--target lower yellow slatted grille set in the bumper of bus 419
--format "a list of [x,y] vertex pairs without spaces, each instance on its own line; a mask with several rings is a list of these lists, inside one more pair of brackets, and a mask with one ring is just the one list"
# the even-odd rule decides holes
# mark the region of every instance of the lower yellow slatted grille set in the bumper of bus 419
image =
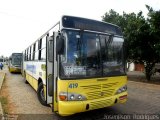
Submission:
[[111,106],[113,104],[112,99],[106,99],[96,102],[90,102],[90,109],[98,109]]

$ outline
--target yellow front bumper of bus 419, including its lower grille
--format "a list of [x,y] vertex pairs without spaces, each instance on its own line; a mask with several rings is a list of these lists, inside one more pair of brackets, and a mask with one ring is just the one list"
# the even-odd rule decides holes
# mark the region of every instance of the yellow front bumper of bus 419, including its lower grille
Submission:
[[95,100],[59,101],[58,113],[61,116],[69,116],[75,113],[113,106],[116,103],[125,103],[127,101],[127,95],[127,92],[123,92],[111,97]]

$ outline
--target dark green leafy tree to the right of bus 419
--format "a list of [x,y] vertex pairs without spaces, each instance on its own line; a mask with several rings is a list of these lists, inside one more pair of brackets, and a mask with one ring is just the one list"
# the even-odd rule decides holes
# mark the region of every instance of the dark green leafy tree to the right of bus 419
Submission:
[[105,13],[102,20],[121,27],[124,33],[127,59],[145,64],[147,80],[153,74],[155,63],[160,62],[160,11],[154,11],[146,5],[148,17],[139,13],[125,13],[122,15],[114,10]]

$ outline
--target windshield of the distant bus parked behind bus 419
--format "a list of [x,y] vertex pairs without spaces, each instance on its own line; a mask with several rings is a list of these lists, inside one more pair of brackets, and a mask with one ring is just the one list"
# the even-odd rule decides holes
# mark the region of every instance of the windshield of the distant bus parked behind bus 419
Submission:
[[13,65],[21,65],[22,54],[13,54],[12,55],[12,64]]

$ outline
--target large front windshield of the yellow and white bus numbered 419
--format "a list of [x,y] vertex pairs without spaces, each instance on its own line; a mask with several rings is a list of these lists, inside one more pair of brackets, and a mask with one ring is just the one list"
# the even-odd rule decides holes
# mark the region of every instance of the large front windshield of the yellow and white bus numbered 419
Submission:
[[66,48],[60,57],[62,78],[125,74],[123,38],[106,34],[63,30]]

